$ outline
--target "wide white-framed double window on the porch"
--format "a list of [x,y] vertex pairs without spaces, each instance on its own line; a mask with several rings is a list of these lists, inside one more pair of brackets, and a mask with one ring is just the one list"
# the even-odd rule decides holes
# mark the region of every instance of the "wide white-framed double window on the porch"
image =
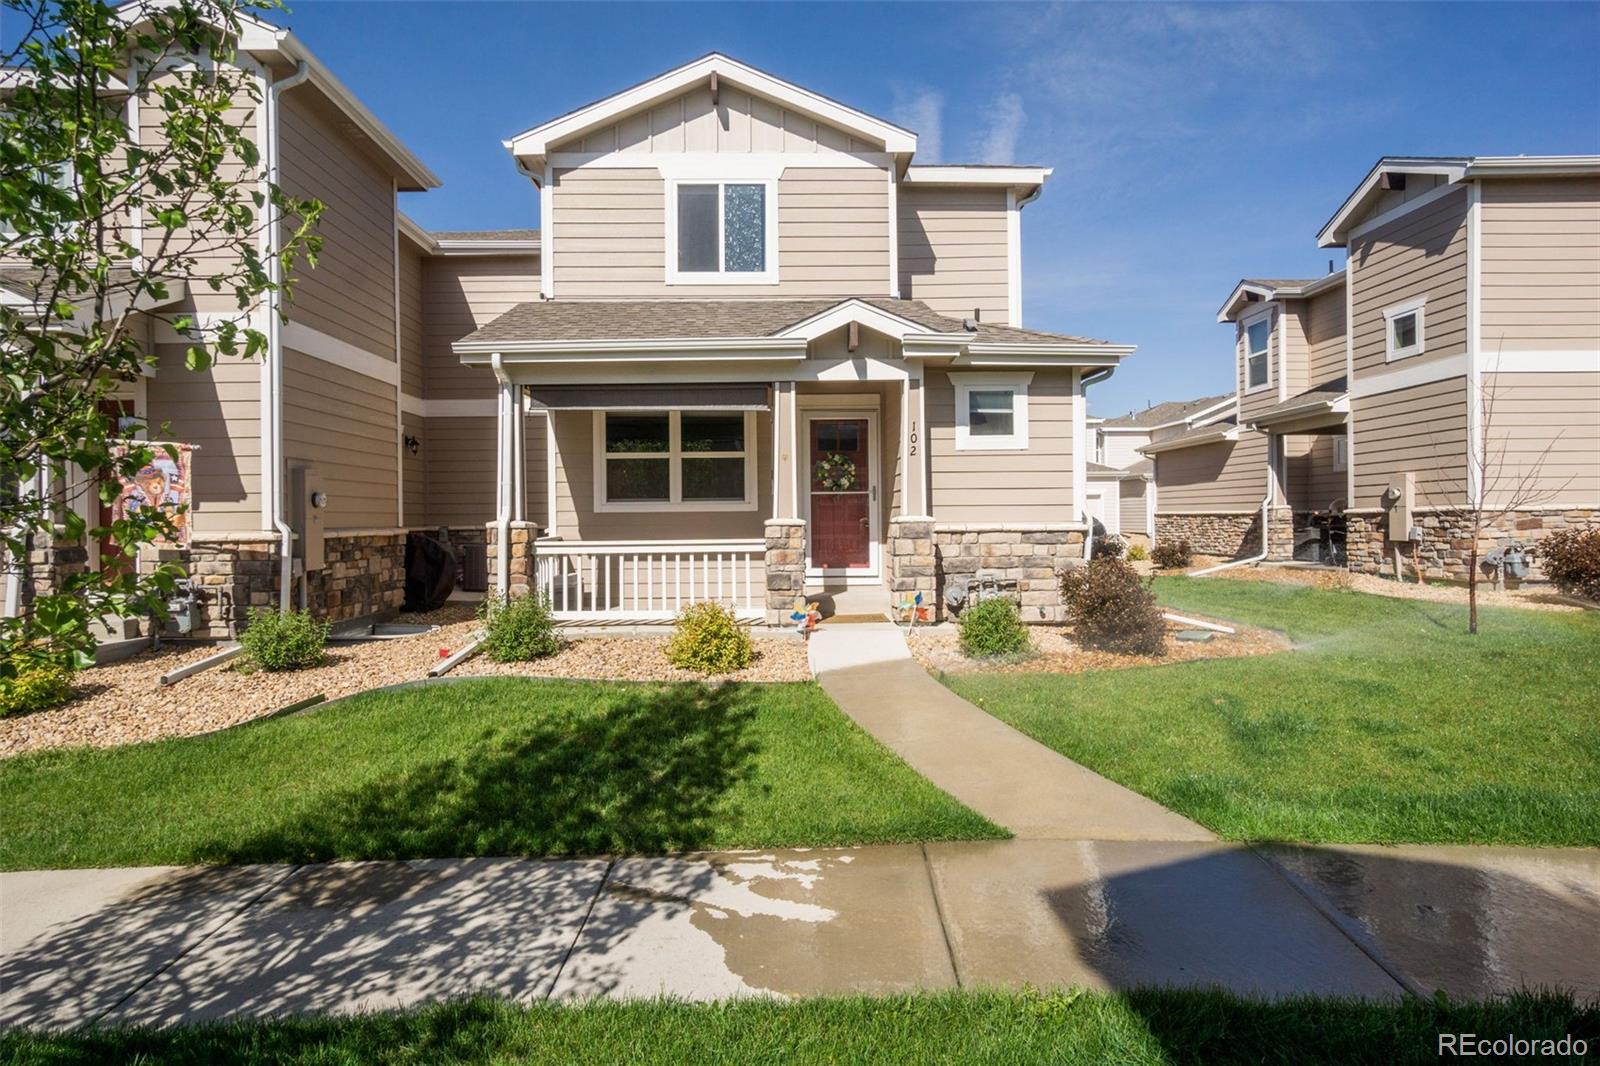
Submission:
[[595,411],[595,511],[754,511],[752,411]]

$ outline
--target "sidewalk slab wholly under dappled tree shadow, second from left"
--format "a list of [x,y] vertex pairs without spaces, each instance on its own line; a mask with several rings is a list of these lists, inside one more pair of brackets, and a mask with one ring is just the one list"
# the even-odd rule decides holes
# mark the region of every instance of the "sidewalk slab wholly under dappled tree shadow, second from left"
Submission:
[[350,1013],[544,996],[603,860],[334,863],[294,872],[107,1021]]

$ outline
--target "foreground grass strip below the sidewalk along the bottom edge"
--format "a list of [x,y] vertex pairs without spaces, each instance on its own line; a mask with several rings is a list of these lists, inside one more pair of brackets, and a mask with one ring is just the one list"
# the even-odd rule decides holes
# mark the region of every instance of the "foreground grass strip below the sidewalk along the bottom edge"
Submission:
[[[510,1007],[0,1036],[0,1063],[1437,1063],[1438,1034],[1600,1045],[1566,996],[1261,1002],[1226,992],[942,992]],[[1571,1056],[1541,1061],[1578,1061]]]

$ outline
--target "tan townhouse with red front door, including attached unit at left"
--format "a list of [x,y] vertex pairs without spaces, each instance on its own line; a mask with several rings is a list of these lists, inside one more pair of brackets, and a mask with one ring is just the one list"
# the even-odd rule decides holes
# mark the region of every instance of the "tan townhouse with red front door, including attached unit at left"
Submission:
[[243,120],[326,240],[288,322],[261,309],[266,359],[197,375],[162,333],[126,389],[198,445],[198,632],[392,610],[408,531],[440,528],[469,584],[563,618],[781,623],[797,595],[942,605],[979,576],[1061,616],[1083,391],[1133,349],[1022,328],[1048,168],[917,165],[914,133],[710,54],[507,142],[542,232],[424,232],[398,192],[434,174],[293,34],[242,43],[264,86],[309,75]]

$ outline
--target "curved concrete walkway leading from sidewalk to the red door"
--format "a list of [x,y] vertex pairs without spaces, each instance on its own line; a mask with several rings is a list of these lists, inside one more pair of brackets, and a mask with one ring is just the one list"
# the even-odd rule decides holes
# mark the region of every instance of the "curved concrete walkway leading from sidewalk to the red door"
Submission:
[[966,703],[910,658],[896,626],[824,626],[810,656],[818,682],[861,728],[1021,839],[1216,839]]

